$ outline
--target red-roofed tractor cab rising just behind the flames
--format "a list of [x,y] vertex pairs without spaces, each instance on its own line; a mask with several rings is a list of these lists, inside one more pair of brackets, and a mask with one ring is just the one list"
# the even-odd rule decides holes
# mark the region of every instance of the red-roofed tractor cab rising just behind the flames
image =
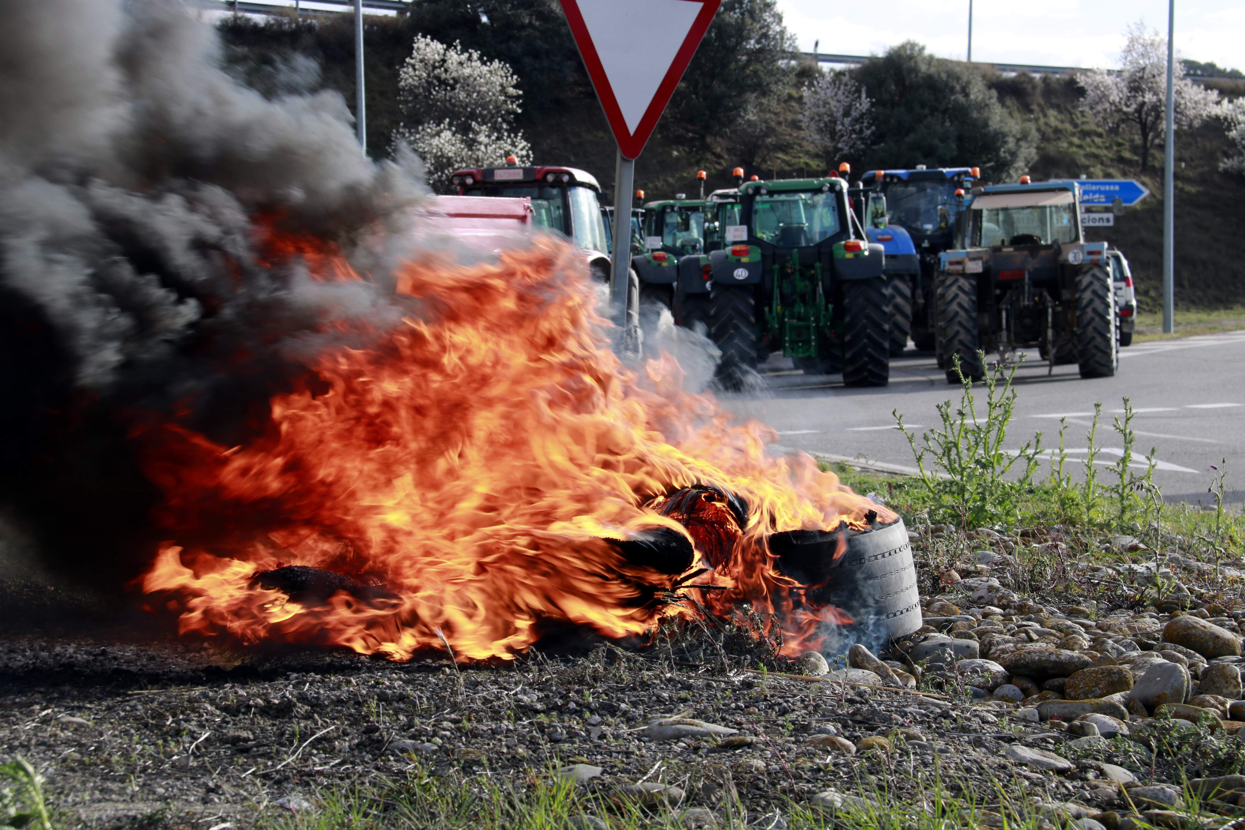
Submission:
[[590,173],[573,167],[504,167],[456,170],[451,180],[459,195],[528,198],[533,225],[569,239],[585,253],[598,279],[609,279],[609,243],[601,219],[601,187]]

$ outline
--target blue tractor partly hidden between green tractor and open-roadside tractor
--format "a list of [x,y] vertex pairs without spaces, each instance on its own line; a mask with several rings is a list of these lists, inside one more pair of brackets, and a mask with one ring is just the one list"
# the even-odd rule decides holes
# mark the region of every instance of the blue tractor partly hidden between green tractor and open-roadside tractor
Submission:
[[[934,320],[934,275],[939,268],[939,254],[951,248],[955,221],[964,207],[962,195],[981,178],[976,167],[941,167],[928,169],[918,164],[915,169],[869,170],[858,187],[870,195],[885,198],[885,228],[878,228],[878,241],[886,249],[890,264],[891,246],[895,255],[908,255],[888,269],[896,279],[890,280],[891,353],[911,335],[913,343],[923,351],[933,351],[936,345]],[[957,194],[959,192],[959,194]],[[888,235],[886,229],[895,236]],[[898,230],[906,231],[908,241],[900,241]],[[874,236],[870,235],[870,241]],[[910,250],[909,250],[910,248]],[[916,254],[918,269],[910,268],[910,254]]]

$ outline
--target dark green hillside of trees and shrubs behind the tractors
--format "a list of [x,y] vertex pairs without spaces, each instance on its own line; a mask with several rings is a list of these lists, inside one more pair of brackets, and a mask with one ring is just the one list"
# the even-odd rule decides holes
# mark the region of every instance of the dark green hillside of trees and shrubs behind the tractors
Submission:
[[[748,174],[778,178],[823,173],[843,161],[828,158],[804,134],[801,90],[819,70],[810,62],[787,58],[789,35],[782,29],[773,2],[727,0],[723,12],[730,14],[720,14],[715,21],[636,163],[636,187],[649,198],[695,192],[697,169],[707,170],[708,187],[717,188],[733,183],[730,172],[736,166],[745,167]],[[224,60],[235,75],[265,95],[336,90],[354,110],[352,26],[349,15],[301,21],[225,19],[220,24]],[[430,0],[406,17],[367,17],[367,146],[372,157],[385,157],[393,149],[392,134],[402,119],[396,95],[398,67],[410,55],[416,34],[442,42],[461,41],[463,47],[478,50],[484,57],[507,61],[523,91],[517,127],[532,144],[534,158],[584,168],[596,175],[606,192],[611,190],[614,141],[558,4],[552,0]],[[960,86],[970,90],[977,107],[995,110],[989,98],[981,98],[974,90],[984,87],[986,96],[997,97],[1013,118],[1013,123],[1002,124],[1001,132],[1022,161],[1032,158],[1027,169],[1035,180],[1081,175],[1137,178],[1150,189],[1150,198],[1119,217],[1114,228],[1088,233],[1091,239],[1111,241],[1124,251],[1143,307],[1154,309],[1162,290],[1162,170],[1138,173],[1133,143],[1103,131],[1081,110],[1081,90],[1072,77],[1003,76],[982,65],[929,56],[921,60],[942,67],[937,70],[940,73],[961,78]],[[869,72],[870,65],[864,70]],[[980,75],[981,83],[975,80],[966,83],[966,72]],[[1211,83],[1224,96],[1245,93],[1243,81]],[[886,117],[901,122],[894,118],[894,108]],[[997,121],[995,116],[991,118]],[[933,154],[955,152],[946,147],[972,146],[967,134],[949,143],[923,141],[919,132],[913,131],[915,138],[879,136],[873,151],[847,161],[857,170],[895,167],[916,163],[916,156],[895,158],[896,148]],[[1245,302],[1245,261],[1233,244],[1245,228],[1245,177],[1219,172],[1220,159],[1230,151],[1223,124],[1215,119],[1177,133],[1178,307]],[[920,161],[931,167],[984,168],[995,162],[992,169],[1007,174],[997,159],[921,156]]]

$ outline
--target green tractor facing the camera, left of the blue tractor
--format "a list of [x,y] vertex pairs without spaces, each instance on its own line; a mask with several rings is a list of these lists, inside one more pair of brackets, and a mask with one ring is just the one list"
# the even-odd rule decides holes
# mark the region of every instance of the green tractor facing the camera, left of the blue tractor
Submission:
[[[708,332],[732,377],[781,351],[807,373],[847,386],[890,380],[884,251],[864,238],[839,178],[752,180],[738,224],[720,221],[708,251]],[[718,208],[730,220],[735,214]],[[690,285],[680,282],[688,296]]]

